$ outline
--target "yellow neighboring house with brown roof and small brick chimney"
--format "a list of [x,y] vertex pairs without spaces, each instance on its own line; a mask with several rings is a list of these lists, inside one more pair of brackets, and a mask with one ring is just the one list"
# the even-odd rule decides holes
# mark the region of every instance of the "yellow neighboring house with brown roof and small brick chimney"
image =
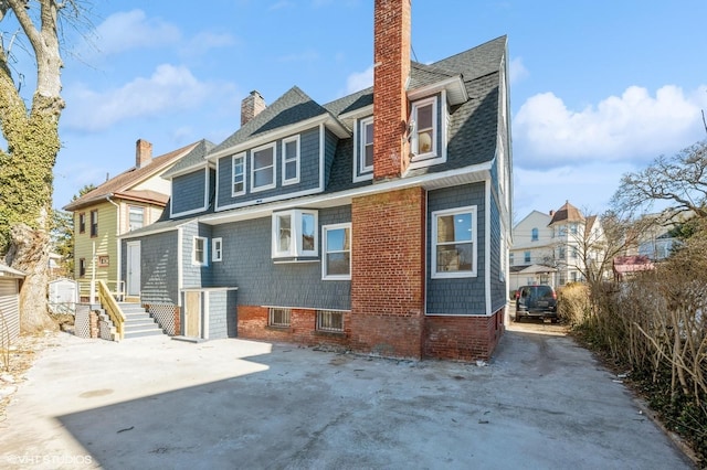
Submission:
[[74,218],[74,278],[82,300],[89,299],[94,279],[105,281],[115,292],[139,295],[127,292],[118,282],[122,254],[117,237],[159,220],[171,194],[170,182],[161,175],[198,143],[152,158],[152,145],[139,139],[135,167],[64,206]]

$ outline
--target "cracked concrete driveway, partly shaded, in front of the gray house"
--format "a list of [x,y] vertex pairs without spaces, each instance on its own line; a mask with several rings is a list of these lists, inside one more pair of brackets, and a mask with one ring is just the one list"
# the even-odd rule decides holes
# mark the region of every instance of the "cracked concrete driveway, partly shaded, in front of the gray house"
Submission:
[[0,423],[0,467],[692,468],[614,375],[542,327],[511,327],[487,365],[62,333]]

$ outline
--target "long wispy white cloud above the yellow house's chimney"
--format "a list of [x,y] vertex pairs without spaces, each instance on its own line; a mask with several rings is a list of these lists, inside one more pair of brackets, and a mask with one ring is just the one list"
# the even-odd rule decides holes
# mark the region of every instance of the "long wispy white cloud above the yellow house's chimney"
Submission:
[[199,82],[187,67],[163,64],[152,76],[135,78],[120,88],[68,88],[65,95],[71,106],[64,114],[65,124],[73,129],[101,130],[123,119],[197,107],[218,89],[214,84]]

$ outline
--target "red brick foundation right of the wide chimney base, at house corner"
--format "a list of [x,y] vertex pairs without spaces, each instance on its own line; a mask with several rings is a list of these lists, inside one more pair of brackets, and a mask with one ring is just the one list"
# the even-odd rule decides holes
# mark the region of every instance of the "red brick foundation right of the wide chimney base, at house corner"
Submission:
[[490,317],[426,317],[424,356],[487,361],[503,334],[503,309]]

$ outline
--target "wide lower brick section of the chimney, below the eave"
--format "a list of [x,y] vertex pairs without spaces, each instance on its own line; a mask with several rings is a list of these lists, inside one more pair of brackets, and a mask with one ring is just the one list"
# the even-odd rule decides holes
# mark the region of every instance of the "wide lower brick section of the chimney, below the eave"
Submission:
[[422,188],[351,204],[351,348],[421,357],[425,199]]

